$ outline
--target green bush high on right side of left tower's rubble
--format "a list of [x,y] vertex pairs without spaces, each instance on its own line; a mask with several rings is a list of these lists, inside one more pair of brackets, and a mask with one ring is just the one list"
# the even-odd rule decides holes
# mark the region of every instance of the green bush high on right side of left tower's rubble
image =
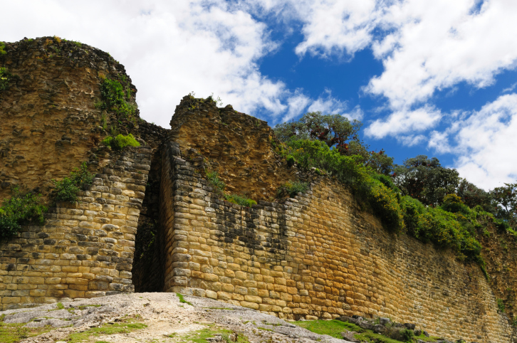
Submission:
[[[124,87],[122,83],[126,83],[126,86]],[[115,113],[117,118],[125,117],[134,120],[137,107],[129,102],[132,90],[125,77],[122,78],[122,83],[108,78],[103,80],[100,85],[100,95],[103,100],[100,109]]]

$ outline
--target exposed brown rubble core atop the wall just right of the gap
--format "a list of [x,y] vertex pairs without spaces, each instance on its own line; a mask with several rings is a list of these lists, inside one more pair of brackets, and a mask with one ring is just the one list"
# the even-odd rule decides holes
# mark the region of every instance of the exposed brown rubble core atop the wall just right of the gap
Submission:
[[169,140],[195,149],[226,183],[226,191],[251,199],[273,199],[278,186],[296,180],[295,169],[276,153],[280,142],[267,122],[227,105],[189,95],[177,105]]

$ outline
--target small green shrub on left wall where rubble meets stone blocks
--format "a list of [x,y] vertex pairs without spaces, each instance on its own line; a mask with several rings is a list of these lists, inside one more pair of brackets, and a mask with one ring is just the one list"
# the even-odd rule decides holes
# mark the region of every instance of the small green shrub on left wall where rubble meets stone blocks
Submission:
[[86,162],[79,168],[74,168],[70,177],[65,177],[61,181],[52,180],[55,188],[53,189],[53,199],[55,201],[68,201],[73,203],[77,200],[80,189],[93,182],[93,175],[88,172]]

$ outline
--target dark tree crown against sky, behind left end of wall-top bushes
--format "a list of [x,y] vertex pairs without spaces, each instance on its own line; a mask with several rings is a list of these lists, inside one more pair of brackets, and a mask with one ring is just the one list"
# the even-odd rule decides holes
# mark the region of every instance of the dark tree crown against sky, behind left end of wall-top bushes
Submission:
[[284,122],[276,125],[273,131],[281,142],[294,140],[319,140],[328,147],[334,147],[345,156],[356,155],[357,160],[365,167],[381,173],[389,174],[393,166],[393,158],[384,150],[369,152],[368,146],[357,136],[361,122],[350,122],[341,115],[322,115],[321,112],[308,112],[298,122]]

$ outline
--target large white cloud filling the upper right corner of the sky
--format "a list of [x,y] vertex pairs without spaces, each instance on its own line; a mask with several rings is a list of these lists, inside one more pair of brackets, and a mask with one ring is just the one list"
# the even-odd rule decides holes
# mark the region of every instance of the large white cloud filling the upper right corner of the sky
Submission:
[[385,70],[366,90],[384,95],[397,109],[462,81],[489,86],[494,75],[515,68],[517,3],[484,1],[481,11],[471,14],[473,5],[472,0],[409,0],[391,6],[382,23],[395,33],[374,44]]

